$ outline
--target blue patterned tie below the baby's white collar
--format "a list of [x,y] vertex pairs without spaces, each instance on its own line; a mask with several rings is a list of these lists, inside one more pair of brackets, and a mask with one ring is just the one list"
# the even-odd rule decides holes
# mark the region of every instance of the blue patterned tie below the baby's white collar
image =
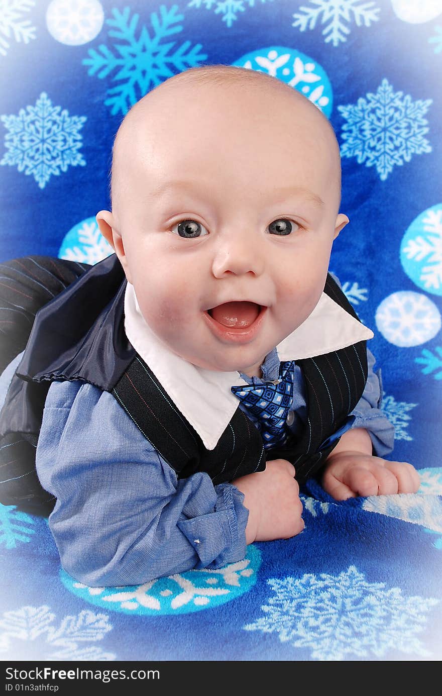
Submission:
[[281,363],[274,382],[230,387],[255,420],[266,450],[284,445],[289,435],[286,420],[293,399],[293,363]]

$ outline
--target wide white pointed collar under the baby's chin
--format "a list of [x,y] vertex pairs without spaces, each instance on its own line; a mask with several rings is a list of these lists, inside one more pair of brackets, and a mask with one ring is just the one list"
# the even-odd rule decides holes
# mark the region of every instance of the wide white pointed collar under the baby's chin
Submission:
[[[239,372],[205,370],[173,353],[146,324],[134,286],[125,290],[125,332],[136,352],[149,365],[207,450],[213,450],[238,406],[230,387],[247,384]],[[313,312],[276,346],[281,362],[301,360],[340,350],[373,338],[366,326],[349,315],[325,292]]]

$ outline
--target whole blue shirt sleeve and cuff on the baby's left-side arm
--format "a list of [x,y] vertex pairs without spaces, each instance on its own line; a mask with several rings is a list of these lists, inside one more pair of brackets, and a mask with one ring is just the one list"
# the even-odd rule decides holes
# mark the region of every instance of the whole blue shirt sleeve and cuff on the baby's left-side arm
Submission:
[[115,398],[92,384],[52,383],[36,466],[57,498],[49,528],[61,564],[90,587],[244,558],[244,494],[214,487],[207,473],[178,479]]

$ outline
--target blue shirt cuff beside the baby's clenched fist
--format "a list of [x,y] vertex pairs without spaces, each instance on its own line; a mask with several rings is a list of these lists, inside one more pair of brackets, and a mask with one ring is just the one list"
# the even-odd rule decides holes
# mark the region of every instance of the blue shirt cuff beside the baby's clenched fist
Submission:
[[242,505],[244,493],[232,484],[219,484],[215,491],[214,512],[177,522],[198,554],[196,569],[220,568],[246,555],[248,509]]

